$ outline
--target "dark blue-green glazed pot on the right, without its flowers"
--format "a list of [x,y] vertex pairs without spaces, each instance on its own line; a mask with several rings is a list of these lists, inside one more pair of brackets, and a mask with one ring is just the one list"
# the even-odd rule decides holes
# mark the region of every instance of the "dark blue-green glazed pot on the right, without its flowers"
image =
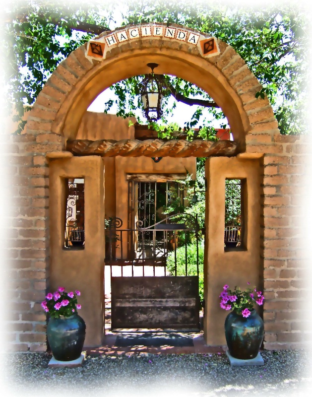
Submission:
[[235,311],[229,313],[224,328],[232,357],[250,360],[257,356],[263,339],[264,325],[254,309],[249,317],[243,317]]

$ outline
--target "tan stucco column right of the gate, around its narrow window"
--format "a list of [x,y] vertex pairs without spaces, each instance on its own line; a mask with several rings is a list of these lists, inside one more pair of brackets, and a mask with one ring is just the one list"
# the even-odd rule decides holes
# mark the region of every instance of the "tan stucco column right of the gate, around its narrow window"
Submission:
[[[241,289],[260,288],[260,176],[258,159],[210,157],[206,160],[207,179],[204,254],[204,338],[208,345],[226,344],[224,321],[229,313],[220,308],[223,285]],[[242,180],[242,247],[224,249],[225,180]]]

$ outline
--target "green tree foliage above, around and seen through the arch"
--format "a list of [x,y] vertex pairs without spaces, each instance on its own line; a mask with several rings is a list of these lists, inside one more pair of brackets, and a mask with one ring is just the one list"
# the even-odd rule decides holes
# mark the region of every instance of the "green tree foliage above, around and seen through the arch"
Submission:
[[[268,96],[280,131],[299,133],[307,130],[310,18],[308,8],[297,3],[251,8],[200,0],[124,0],[118,4],[51,0],[15,2],[2,16],[5,20],[2,46],[4,53],[8,54],[5,73],[9,102],[17,108],[19,118],[24,111],[23,105],[34,102],[44,82],[62,59],[99,32],[114,28],[116,7],[123,12],[123,24],[174,22],[227,42],[247,62],[262,84],[263,89],[257,96]],[[210,99],[190,82],[174,76],[165,78],[174,92],[181,96]],[[138,80],[138,76],[132,77],[112,87],[119,96],[120,116],[131,116],[133,110],[141,106],[137,96]],[[171,94],[169,90],[167,97]],[[112,101],[107,103],[107,110],[111,104]],[[210,114],[223,118],[218,108],[198,107],[188,127],[194,126],[200,115],[208,120]],[[166,114],[163,122],[165,119]]]

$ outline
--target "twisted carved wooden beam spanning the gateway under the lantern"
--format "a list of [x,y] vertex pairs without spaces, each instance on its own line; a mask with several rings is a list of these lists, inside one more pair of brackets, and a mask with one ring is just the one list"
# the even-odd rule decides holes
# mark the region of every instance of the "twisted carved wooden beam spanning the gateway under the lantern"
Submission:
[[209,157],[234,156],[237,143],[230,140],[178,140],[160,139],[76,139],[67,141],[66,150],[75,156],[99,155],[102,157]]

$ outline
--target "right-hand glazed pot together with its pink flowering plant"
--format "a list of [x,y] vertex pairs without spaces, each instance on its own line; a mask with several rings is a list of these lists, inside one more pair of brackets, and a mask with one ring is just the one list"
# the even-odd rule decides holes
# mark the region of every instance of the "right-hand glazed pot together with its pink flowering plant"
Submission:
[[224,323],[226,342],[231,356],[242,360],[255,358],[263,340],[264,326],[253,306],[263,304],[262,292],[257,291],[255,287],[242,291],[237,286],[232,291],[226,284],[219,297],[220,307],[232,310]]

